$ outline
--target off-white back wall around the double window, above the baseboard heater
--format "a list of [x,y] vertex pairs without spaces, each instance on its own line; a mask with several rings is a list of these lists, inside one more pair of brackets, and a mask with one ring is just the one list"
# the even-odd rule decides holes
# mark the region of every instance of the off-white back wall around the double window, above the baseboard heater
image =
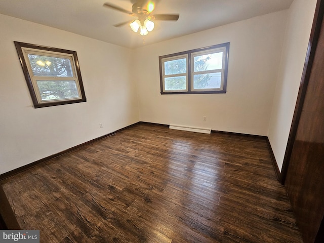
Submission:
[[[136,49],[140,119],[266,136],[286,16],[276,12]],[[158,56],[225,42],[226,94],[160,95]]]

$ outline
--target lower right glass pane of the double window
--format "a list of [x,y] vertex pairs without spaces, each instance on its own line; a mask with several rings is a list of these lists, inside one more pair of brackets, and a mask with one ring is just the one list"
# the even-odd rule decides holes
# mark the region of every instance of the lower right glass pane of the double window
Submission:
[[221,88],[221,72],[193,75],[194,89],[219,89]]

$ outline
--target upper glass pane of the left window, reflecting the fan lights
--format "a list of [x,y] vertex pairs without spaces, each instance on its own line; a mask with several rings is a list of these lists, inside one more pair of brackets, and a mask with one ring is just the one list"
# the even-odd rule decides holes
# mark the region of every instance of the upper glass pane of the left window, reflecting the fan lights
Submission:
[[73,77],[68,58],[28,54],[34,76]]

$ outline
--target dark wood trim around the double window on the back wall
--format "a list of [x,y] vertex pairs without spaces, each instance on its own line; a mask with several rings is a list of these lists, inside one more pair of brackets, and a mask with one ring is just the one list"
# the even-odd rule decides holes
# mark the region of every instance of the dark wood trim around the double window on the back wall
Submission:
[[[191,54],[194,54],[196,52],[201,52],[201,51],[208,51],[212,49],[217,49],[217,48],[222,48],[225,47],[225,67],[224,67],[224,81],[223,81],[223,89],[219,91],[192,91],[191,89]],[[223,44],[218,44],[214,46],[209,46],[209,47],[203,47],[203,48],[197,48],[189,51],[184,51],[184,52],[178,52],[174,54],[168,54],[164,56],[159,56],[159,72],[160,72],[160,89],[161,92],[160,94],[162,95],[176,95],[176,94],[225,94],[226,93],[226,86],[227,86],[227,72],[228,72],[228,54],[229,54],[229,42],[223,43]],[[162,67],[162,60],[165,58],[169,57],[175,57],[175,56],[180,56],[180,55],[188,55],[188,63],[187,63],[187,75],[188,75],[188,91],[168,91],[165,92],[163,89],[163,67]]]

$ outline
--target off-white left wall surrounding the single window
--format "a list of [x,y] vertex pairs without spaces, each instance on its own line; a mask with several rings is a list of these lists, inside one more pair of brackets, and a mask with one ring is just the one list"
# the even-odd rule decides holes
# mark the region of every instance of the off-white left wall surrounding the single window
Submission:
[[[132,50],[5,15],[0,33],[0,174],[139,121]],[[76,51],[87,102],[34,109],[14,41]]]

